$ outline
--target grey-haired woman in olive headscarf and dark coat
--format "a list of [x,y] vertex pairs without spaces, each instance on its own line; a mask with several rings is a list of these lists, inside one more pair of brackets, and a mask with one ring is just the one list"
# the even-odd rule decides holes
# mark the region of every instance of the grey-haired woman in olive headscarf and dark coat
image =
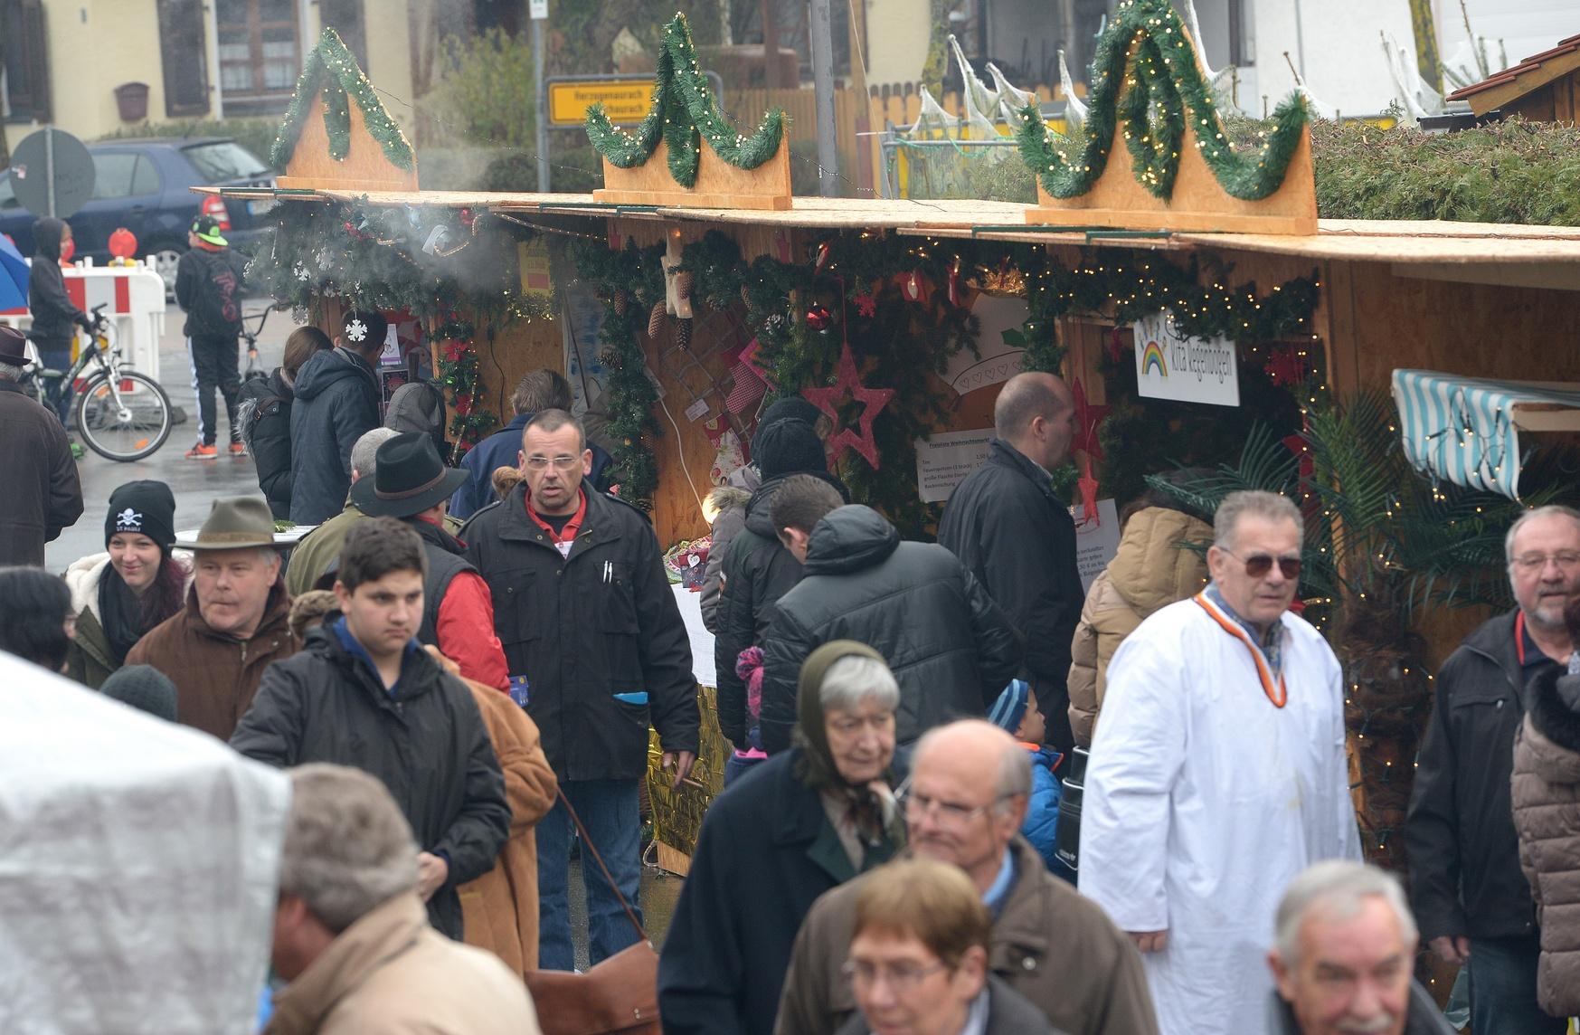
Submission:
[[703,817],[659,959],[665,1032],[769,1035],[812,902],[904,844],[890,790],[899,686],[883,657],[825,643],[796,694],[795,746]]

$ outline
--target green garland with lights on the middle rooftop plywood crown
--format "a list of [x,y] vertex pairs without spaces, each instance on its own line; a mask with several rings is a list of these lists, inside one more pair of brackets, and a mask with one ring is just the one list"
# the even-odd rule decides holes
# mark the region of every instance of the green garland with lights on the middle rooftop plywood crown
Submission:
[[588,107],[588,139],[611,166],[632,169],[645,164],[662,139],[668,144],[670,175],[689,188],[697,183],[703,142],[738,169],[757,169],[779,152],[788,125],[782,109],[769,111],[750,136],[736,133],[719,114],[708,77],[697,63],[684,14],[676,14],[664,27],[657,65],[653,107],[635,133],[611,123],[602,104]]

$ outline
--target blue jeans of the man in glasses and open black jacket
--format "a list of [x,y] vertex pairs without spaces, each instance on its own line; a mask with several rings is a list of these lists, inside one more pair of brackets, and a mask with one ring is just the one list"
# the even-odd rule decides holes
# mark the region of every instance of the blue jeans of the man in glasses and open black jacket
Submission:
[[[574,781],[561,784],[559,790],[581,817],[588,837],[597,845],[608,872],[640,921],[641,817],[637,781]],[[537,965],[544,970],[575,969],[569,894],[574,834],[575,823],[558,801],[537,823]],[[588,893],[588,951],[596,965],[635,945],[637,932],[586,845],[581,845],[581,880]]]

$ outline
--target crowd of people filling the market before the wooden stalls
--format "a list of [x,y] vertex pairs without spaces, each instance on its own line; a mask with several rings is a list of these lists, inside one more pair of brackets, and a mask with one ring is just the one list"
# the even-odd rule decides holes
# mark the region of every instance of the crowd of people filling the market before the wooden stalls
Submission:
[[[6,392],[0,329],[0,422],[35,436],[41,487],[5,518],[0,649],[289,771],[270,1032],[553,1029],[528,983],[577,965],[578,839],[588,965],[645,937],[649,728],[679,787],[690,637],[564,379],[523,378],[452,468],[431,428],[378,425],[381,324],[292,335],[240,417],[259,496],[182,539],[171,490],[128,482],[63,578],[43,542],[81,493],[52,480],[58,422]],[[1289,499],[1149,493],[1084,593],[1059,378],[1003,386],[939,544],[847,502],[825,433],[771,406],[750,472],[709,498],[733,754],[653,978],[665,1032],[1446,1032],[1422,940],[1465,964],[1477,1035],[1566,1030],[1580,512],[1509,529],[1517,608],[1435,683],[1406,898],[1360,861]],[[318,528],[281,545],[281,514]]]

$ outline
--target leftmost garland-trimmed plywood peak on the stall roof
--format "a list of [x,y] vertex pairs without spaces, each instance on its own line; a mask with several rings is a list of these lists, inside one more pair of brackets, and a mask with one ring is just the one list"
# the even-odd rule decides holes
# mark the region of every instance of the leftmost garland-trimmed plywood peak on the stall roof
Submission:
[[307,55],[270,152],[284,188],[417,190],[417,156],[340,33]]

